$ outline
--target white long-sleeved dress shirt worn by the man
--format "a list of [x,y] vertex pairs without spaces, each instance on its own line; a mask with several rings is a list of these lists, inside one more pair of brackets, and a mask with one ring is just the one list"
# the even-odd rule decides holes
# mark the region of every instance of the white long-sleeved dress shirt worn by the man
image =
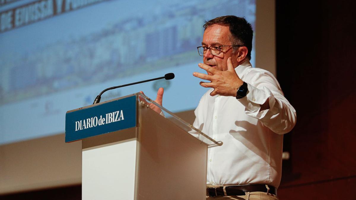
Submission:
[[[193,123],[222,146],[208,149],[208,185],[268,184],[278,188],[282,173],[283,134],[292,130],[296,113],[274,76],[247,60],[235,68],[248,94],[200,99]],[[269,99],[269,109],[260,111]]]

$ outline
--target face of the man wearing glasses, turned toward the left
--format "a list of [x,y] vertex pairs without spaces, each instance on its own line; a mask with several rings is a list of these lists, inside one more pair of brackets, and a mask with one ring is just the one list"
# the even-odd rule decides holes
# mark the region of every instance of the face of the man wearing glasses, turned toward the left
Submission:
[[[230,35],[229,26],[211,25],[204,31],[203,42],[201,44],[203,47],[232,45],[229,38]],[[232,64],[236,67],[237,53],[232,53],[232,47],[221,47],[220,54],[216,56],[211,55],[209,50],[206,51],[203,62],[220,71],[226,71],[226,61],[229,57],[232,58]]]

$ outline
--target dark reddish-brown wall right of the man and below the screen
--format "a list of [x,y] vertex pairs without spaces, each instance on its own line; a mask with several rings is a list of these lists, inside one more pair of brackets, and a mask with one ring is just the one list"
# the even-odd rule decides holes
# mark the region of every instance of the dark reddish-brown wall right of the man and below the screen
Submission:
[[[355,3],[276,1],[277,79],[297,110],[280,199],[356,199]],[[1,199],[80,199],[68,186]]]

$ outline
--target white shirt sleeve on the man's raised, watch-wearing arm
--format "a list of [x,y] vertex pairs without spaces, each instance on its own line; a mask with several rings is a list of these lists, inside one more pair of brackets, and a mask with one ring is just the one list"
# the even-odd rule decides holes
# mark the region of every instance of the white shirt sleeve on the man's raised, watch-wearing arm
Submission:
[[[248,116],[260,120],[273,132],[284,134],[292,130],[297,114],[289,101],[284,97],[277,79],[272,73],[256,72],[250,83],[247,83],[248,94],[239,99],[245,106]],[[269,109],[261,111],[261,105],[269,100]]]

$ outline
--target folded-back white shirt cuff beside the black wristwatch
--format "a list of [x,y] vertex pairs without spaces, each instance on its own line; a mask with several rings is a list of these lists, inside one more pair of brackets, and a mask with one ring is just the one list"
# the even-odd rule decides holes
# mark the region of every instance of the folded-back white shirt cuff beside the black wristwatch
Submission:
[[[274,102],[276,101],[273,98],[273,95],[269,89],[263,87],[258,89],[251,84],[247,83],[248,94],[241,99],[238,99],[242,105],[245,106],[245,113],[248,116],[262,119],[266,116],[267,112],[273,108]],[[271,98],[272,97],[272,98]],[[263,105],[266,100],[269,98],[269,107],[270,109],[261,110],[261,105]]]

